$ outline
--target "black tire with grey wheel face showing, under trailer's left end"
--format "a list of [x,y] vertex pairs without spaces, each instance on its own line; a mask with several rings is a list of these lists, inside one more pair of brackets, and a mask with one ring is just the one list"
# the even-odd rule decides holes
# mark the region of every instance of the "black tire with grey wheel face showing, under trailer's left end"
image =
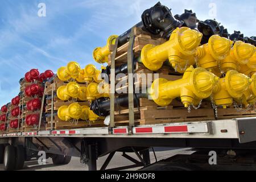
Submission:
[[3,164],[6,171],[13,171],[15,169],[15,147],[6,146]]

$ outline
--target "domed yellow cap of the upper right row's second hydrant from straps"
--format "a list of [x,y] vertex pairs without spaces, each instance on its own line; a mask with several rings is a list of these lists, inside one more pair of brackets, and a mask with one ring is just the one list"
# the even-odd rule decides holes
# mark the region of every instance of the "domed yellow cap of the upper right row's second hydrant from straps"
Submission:
[[232,40],[222,38],[219,35],[211,36],[208,42],[210,54],[216,60],[225,59],[230,49],[232,48],[232,45]]

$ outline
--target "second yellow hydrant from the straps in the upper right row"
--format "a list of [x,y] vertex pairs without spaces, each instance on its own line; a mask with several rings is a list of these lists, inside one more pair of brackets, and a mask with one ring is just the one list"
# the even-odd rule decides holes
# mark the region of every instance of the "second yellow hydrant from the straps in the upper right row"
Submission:
[[232,40],[222,38],[219,35],[210,37],[209,42],[197,48],[196,59],[199,67],[210,72],[218,68],[218,60],[223,60],[232,48]]

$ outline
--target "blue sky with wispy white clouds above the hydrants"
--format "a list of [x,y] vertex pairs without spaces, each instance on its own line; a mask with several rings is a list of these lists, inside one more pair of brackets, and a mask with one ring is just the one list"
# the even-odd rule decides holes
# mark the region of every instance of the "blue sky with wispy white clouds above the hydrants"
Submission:
[[[19,93],[19,79],[32,68],[40,72],[77,61],[82,67],[96,64],[95,47],[109,35],[120,35],[140,21],[143,10],[158,1],[148,0],[1,0],[0,6],[0,106]],[[164,0],[172,13],[192,9],[200,20],[216,18],[229,32],[256,35],[255,0]],[[46,17],[38,4],[46,4]],[[216,17],[209,4],[215,3]],[[100,65],[96,64],[98,68]]]

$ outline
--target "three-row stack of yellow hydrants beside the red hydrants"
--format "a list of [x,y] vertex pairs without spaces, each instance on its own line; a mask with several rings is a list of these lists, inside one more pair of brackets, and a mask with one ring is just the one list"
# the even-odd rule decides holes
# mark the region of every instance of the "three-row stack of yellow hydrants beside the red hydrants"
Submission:
[[[58,117],[63,121],[84,120],[96,121],[100,116],[90,110],[92,101],[100,97],[108,97],[108,92],[104,91],[104,86],[108,86],[101,80],[101,71],[92,65],[86,65],[81,69],[75,61],[61,67],[57,71],[57,77],[68,82],[67,85],[57,88],[57,97],[62,101],[71,101],[72,104],[61,106],[57,111]],[[102,89],[101,90],[99,89]],[[87,102],[88,105],[80,105]]]

